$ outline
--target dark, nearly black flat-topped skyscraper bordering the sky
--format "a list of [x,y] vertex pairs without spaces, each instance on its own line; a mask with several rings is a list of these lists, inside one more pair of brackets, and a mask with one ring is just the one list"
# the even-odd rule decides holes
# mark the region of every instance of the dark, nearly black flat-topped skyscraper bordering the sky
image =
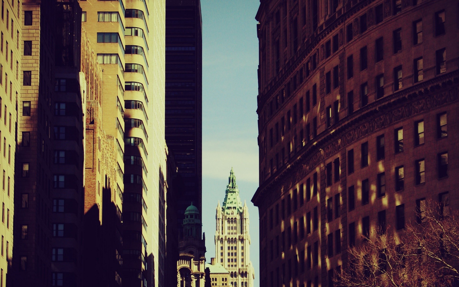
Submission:
[[184,188],[177,228],[193,202],[202,214],[202,19],[200,0],[166,0],[166,142]]

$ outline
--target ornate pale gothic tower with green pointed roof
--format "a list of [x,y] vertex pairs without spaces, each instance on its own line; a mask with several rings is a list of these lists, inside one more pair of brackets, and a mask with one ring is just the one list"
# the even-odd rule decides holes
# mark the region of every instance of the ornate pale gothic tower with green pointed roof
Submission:
[[241,203],[232,168],[223,205],[218,201],[216,209],[216,261],[229,271],[228,286],[252,287],[255,273],[250,261],[249,210]]

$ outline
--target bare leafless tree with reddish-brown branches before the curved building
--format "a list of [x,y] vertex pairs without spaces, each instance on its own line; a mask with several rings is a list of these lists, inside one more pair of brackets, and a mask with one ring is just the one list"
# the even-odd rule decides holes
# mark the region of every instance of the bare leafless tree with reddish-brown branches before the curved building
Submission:
[[334,279],[337,286],[427,287],[451,286],[459,279],[459,216],[444,204],[426,203],[417,222],[403,234],[377,230],[357,247]]

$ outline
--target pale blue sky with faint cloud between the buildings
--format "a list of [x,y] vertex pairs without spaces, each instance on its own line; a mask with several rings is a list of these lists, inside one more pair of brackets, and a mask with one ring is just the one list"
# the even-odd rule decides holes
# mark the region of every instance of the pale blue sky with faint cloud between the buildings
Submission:
[[250,214],[250,257],[259,282],[257,66],[259,0],[202,0],[202,213],[206,259],[215,257],[215,208],[231,167]]

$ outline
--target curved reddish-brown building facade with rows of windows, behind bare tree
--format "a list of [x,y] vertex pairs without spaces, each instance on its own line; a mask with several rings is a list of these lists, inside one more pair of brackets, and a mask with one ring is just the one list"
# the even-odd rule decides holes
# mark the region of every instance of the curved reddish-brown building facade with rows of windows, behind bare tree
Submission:
[[459,202],[458,3],[261,0],[261,286],[331,286],[349,245]]

